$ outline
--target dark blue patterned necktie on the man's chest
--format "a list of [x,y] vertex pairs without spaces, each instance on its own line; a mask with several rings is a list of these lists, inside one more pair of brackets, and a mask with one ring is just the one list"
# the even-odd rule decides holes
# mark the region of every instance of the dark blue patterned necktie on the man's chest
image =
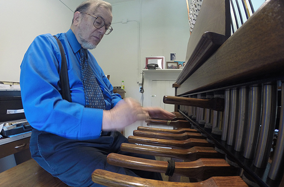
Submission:
[[88,63],[86,50],[80,50],[81,76],[84,87],[85,102],[88,108],[105,109],[102,91]]

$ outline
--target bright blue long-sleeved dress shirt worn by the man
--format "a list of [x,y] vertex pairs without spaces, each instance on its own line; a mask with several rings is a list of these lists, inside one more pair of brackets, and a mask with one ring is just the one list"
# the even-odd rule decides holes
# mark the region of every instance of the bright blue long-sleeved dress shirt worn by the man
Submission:
[[[37,36],[21,64],[20,86],[26,119],[37,130],[69,139],[98,138],[103,110],[84,107],[79,54],[81,44],[71,29],[56,36],[65,52],[72,103],[63,100],[60,95],[61,55],[55,38],[51,34]],[[113,86],[89,51],[88,62],[101,87],[105,110],[110,110],[121,97],[113,93]]]

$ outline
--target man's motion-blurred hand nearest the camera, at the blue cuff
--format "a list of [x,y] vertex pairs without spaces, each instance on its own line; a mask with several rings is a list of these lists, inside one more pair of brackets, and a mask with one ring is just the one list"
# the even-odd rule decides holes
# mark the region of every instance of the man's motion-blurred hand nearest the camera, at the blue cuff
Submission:
[[126,98],[119,101],[111,110],[104,110],[102,115],[102,130],[123,129],[137,120],[149,118],[148,111],[134,99]]

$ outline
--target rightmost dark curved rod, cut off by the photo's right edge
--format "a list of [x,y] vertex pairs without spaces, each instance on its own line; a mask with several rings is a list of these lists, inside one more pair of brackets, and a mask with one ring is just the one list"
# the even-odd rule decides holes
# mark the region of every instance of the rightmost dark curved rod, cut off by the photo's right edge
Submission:
[[280,122],[279,131],[277,137],[277,143],[275,147],[274,157],[268,173],[268,177],[272,180],[276,180],[283,175],[284,166],[284,82],[281,84],[281,111],[280,111]]

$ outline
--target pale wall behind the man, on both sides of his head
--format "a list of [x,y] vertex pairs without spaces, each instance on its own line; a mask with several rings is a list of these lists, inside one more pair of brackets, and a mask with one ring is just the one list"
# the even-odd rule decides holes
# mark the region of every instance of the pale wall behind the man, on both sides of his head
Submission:
[[[20,64],[35,36],[66,32],[82,0],[0,0],[0,80],[19,81]],[[125,82],[126,97],[142,101],[138,92],[145,58],[176,53],[184,61],[189,39],[185,0],[109,0],[113,28],[91,52],[113,86]],[[117,3],[120,2],[120,3]],[[70,10],[71,9],[71,10]],[[126,23],[122,23],[126,22]],[[140,123],[129,127],[129,133]],[[126,133],[127,135],[127,133]]]

